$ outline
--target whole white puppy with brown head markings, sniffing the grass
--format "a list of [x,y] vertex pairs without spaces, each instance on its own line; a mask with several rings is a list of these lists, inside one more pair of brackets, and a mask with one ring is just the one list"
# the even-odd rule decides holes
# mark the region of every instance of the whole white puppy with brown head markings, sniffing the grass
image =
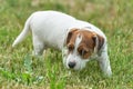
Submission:
[[102,71],[111,76],[105,34],[93,24],[58,11],[38,11],[27,20],[12,47],[21,42],[31,30],[34,55],[52,47],[62,51],[66,68],[81,70],[96,59]]

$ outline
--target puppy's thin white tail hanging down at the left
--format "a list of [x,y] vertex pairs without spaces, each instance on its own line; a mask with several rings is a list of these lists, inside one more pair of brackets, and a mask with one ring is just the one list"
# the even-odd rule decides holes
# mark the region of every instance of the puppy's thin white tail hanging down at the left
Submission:
[[17,37],[17,39],[13,41],[12,47],[16,47],[19,42],[21,42],[29,33],[30,31],[30,20],[32,17],[30,17],[24,24],[24,28],[22,32]]

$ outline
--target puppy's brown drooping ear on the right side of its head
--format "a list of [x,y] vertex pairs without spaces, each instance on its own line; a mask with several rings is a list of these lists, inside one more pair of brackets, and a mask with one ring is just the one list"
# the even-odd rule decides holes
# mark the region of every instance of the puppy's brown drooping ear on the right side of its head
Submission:
[[93,33],[92,39],[94,41],[94,51],[101,50],[101,48],[104,43],[104,38],[96,33]]

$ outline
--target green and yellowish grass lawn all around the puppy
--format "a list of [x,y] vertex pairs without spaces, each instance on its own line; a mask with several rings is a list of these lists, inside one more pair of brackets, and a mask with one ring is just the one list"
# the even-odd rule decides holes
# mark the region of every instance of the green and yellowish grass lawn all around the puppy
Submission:
[[[11,48],[30,14],[50,9],[103,30],[109,40],[111,78],[102,75],[95,61],[82,71],[64,69],[61,52],[53,49],[44,58],[31,56],[31,34]],[[133,89],[132,12],[132,0],[0,0],[0,89]]]

